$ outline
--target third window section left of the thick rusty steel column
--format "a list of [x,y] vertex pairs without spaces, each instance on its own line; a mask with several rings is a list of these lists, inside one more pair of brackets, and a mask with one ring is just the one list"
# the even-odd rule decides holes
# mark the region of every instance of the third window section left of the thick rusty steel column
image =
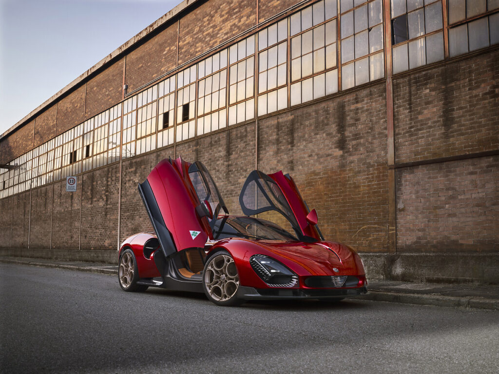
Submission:
[[287,108],[288,18],[258,33],[258,115]]

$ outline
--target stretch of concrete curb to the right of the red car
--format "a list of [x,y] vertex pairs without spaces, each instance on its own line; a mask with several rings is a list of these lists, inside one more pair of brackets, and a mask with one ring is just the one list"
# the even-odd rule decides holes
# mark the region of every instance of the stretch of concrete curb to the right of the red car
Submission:
[[371,301],[387,301],[391,303],[434,305],[439,307],[476,308],[487,310],[499,310],[499,300],[478,297],[456,297],[442,295],[407,294],[396,292],[384,292],[369,290],[367,295],[357,299]]

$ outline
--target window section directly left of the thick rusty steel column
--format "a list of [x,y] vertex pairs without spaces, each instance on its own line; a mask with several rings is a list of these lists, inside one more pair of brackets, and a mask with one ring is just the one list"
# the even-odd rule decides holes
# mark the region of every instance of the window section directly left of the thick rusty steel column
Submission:
[[341,88],[383,78],[382,0],[341,0],[340,12]]

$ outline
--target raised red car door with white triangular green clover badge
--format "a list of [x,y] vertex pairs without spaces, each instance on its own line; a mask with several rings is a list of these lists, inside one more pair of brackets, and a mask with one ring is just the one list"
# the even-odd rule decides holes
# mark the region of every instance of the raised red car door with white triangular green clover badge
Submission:
[[187,248],[204,248],[207,239],[213,238],[213,213],[227,211],[200,162],[165,159],[139,184],[139,192],[165,257]]

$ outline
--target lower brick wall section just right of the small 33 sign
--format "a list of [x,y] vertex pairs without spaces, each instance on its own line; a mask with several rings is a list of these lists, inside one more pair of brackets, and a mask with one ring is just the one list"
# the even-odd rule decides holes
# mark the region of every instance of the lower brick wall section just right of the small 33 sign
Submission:
[[115,250],[118,246],[119,164],[83,174],[82,180],[80,248]]

